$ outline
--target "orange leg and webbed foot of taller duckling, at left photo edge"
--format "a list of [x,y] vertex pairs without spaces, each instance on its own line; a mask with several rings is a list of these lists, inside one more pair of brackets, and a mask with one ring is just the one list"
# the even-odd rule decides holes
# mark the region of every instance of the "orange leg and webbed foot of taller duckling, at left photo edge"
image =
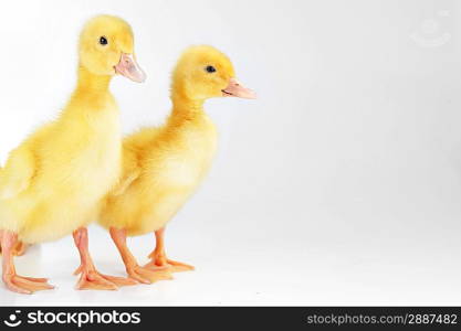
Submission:
[[31,295],[34,291],[52,289],[54,286],[48,284],[46,278],[32,278],[18,276],[13,263],[13,252],[18,244],[18,235],[10,231],[0,231],[0,245],[2,248],[2,278],[8,289],[24,295]]

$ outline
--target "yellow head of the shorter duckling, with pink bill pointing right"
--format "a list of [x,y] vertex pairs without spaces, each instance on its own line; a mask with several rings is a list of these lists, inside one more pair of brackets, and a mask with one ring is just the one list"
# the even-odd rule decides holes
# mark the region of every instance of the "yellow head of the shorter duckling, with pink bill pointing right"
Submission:
[[207,45],[191,46],[184,52],[172,73],[174,96],[192,100],[212,97],[253,99],[255,93],[235,78],[232,63],[226,54]]

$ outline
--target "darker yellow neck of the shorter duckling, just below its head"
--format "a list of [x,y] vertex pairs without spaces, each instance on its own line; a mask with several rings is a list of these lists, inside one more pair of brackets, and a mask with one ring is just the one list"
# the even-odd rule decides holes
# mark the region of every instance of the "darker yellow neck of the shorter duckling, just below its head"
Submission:
[[206,116],[203,110],[205,100],[202,99],[191,99],[184,95],[172,94],[171,102],[170,121],[199,120]]

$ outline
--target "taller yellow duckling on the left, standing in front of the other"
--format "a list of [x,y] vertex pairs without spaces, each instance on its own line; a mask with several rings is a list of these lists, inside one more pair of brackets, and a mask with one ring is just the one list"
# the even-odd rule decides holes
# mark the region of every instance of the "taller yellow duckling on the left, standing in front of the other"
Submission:
[[45,278],[17,275],[18,242],[43,243],[71,233],[81,256],[77,289],[135,284],[96,270],[86,229],[122,167],[119,114],[108,89],[115,74],[145,79],[134,57],[132,28],[119,18],[99,15],[80,35],[78,78],[65,108],[14,149],[0,171],[2,279],[12,291],[53,288]]

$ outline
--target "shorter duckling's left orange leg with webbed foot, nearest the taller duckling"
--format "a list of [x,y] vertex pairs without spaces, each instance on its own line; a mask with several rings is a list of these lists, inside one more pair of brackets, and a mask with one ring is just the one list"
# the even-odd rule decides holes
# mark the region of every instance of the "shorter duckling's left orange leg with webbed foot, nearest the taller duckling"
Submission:
[[121,228],[111,227],[111,237],[117,246],[121,253],[122,259],[125,264],[126,273],[133,279],[136,279],[143,284],[153,284],[157,280],[172,279],[171,274],[167,268],[157,267],[155,269],[148,269],[139,266],[136,258],[129,252],[126,245],[126,231]]

